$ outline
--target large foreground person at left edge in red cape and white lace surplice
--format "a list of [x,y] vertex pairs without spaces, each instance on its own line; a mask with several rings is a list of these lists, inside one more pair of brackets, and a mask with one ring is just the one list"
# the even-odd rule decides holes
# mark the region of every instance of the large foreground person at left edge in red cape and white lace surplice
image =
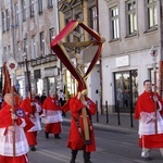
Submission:
[[[13,103],[15,113],[11,113],[12,93],[5,93],[4,101],[7,104],[0,110],[0,163],[28,163],[29,148],[25,130],[32,128],[34,124],[15,103]],[[13,150],[13,131],[16,150]]]

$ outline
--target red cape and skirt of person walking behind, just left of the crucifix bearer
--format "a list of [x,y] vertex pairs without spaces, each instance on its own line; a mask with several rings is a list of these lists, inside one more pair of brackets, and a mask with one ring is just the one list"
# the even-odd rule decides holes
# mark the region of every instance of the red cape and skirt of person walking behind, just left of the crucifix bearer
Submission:
[[[51,97],[48,97],[43,101],[42,108],[43,108],[45,114],[48,111],[61,111],[60,101],[57,98],[51,98]],[[48,114],[46,114],[46,116],[48,116]],[[60,134],[62,131],[61,122],[46,124],[46,130],[45,131],[50,133],[50,134],[54,134],[54,135]]]

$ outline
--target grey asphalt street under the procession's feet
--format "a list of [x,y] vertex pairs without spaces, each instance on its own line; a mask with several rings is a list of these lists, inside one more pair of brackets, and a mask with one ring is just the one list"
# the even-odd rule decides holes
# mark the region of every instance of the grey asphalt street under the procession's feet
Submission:
[[[54,139],[50,135],[45,138],[43,127],[38,134],[37,151],[29,152],[30,163],[68,163],[71,150],[66,148],[68,137],[68,123],[63,123],[62,139]],[[146,163],[140,158],[138,135],[136,131],[123,131],[117,129],[96,128],[97,151],[92,152],[92,163]],[[159,150],[153,150],[150,163],[162,163],[163,159]],[[76,163],[83,163],[83,152],[79,151]]]

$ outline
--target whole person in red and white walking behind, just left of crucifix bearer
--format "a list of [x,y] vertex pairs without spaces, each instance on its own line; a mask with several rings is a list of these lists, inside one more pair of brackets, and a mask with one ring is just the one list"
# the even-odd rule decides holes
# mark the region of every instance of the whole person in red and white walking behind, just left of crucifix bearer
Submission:
[[50,91],[50,96],[43,101],[41,117],[45,121],[41,122],[46,123],[46,138],[49,138],[49,134],[53,134],[55,139],[61,139],[62,110],[54,91]]

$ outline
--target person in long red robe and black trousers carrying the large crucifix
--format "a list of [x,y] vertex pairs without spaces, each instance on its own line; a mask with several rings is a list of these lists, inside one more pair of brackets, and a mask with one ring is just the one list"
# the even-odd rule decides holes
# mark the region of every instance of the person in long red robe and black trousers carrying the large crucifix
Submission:
[[[70,128],[70,137],[67,141],[67,148],[72,150],[72,159],[70,163],[75,163],[78,150],[84,151],[84,162],[91,163],[90,152],[96,151],[95,133],[91,122],[91,115],[96,114],[97,105],[88,97],[85,100],[80,100],[82,92],[71,98],[67,103],[62,108],[63,111],[70,109],[72,113],[72,122]],[[87,110],[87,123],[90,133],[90,142],[86,142],[84,138],[84,122],[82,110],[86,106]]]

